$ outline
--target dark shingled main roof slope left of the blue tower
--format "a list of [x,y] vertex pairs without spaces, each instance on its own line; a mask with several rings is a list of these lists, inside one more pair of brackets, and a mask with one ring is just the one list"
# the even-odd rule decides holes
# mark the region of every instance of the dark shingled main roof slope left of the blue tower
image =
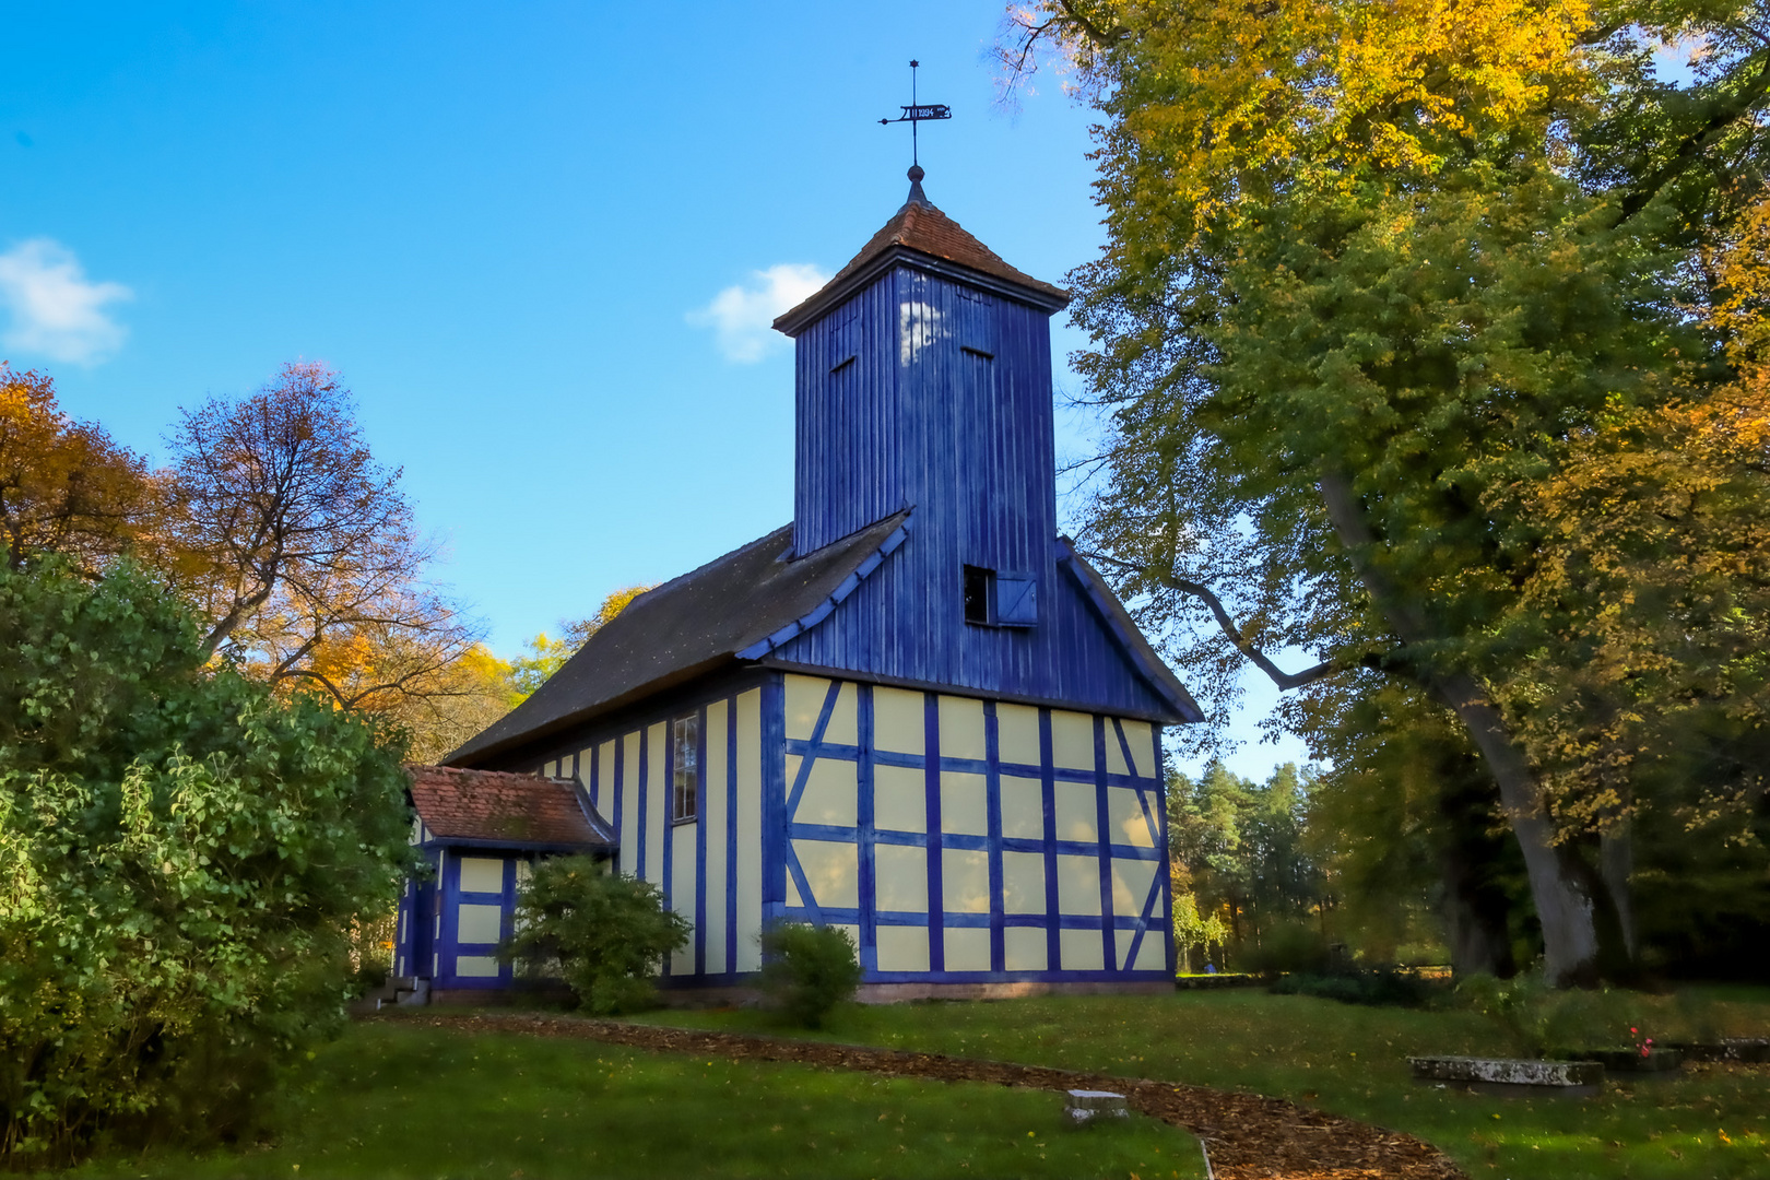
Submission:
[[[903,543],[908,511],[793,557],[793,525],[650,589],[545,685],[446,759],[471,766],[719,667],[816,624]],[[740,653],[747,653],[740,656]]]

